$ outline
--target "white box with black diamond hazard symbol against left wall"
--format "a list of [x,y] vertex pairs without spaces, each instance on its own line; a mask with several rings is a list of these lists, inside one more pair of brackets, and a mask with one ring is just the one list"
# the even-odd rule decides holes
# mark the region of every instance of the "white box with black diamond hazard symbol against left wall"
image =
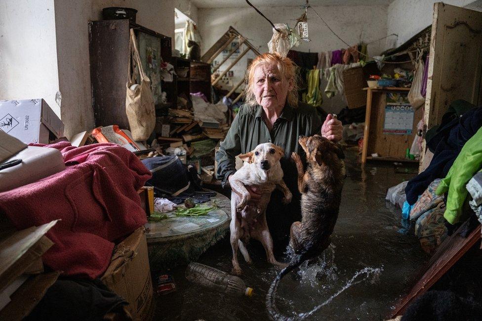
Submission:
[[64,124],[43,99],[2,100],[0,130],[25,144],[48,144],[64,135]]

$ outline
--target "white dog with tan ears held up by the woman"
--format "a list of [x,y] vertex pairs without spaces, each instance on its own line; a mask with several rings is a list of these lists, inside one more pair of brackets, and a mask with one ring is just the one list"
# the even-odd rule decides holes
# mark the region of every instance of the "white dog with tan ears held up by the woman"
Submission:
[[[283,192],[283,203],[291,201],[291,192],[283,181],[283,170],[280,159],[284,151],[272,144],[264,143],[256,146],[254,151],[241,154],[243,166],[230,179],[231,188],[231,246],[233,248],[233,271],[241,274],[238,262],[238,248],[247,263],[252,263],[245,244],[252,237],[260,241],[265,250],[268,262],[283,266],[276,261],[273,254],[273,240],[266,222],[266,207],[271,198],[271,192],[278,188]],[[261,194],[258,204],[250,201],[246,187],[256,187]]]

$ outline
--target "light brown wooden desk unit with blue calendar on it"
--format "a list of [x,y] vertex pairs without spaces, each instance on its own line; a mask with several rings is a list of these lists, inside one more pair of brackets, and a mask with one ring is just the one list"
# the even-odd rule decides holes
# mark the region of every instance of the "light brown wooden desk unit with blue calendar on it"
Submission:
[[[386,95],[381,95],[381,93],[391,91],[407,92],[410,88],[368,87],[363,88],[363,90],[366,90],[367,93],[361,165],[363,166],[367,160],[418,162],[405,159],[405,151],[407,148],[410,148],[416,135],[416,130],[413,130],[411,135],[389,135],[382,132],[385,119]],[[413,127],[415,128],[418,121],[422,118],[422,109],[419,108],[414,113]],[[378,153],[380,157],[367,156],[372,153]]]

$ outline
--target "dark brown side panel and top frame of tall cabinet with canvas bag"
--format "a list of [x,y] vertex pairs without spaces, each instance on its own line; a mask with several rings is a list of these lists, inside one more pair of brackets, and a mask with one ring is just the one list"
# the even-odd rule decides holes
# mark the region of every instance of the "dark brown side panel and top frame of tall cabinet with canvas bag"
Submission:
[[[150,53],[155,63],[170,61],[171,39],[127,19],[89,22],[90,83],[95,126],[119,125],[129,129],[125,114],[125,94],[128,80],[129,29],[136,38],[144,34],[160,42],[160,53]],[[140,52],[141,57],[146,57]],[[151,61],[152,62],[152,61]],[[161,85],[161,89],[162,88]],[[156,108],[161,107],[158,104]]]

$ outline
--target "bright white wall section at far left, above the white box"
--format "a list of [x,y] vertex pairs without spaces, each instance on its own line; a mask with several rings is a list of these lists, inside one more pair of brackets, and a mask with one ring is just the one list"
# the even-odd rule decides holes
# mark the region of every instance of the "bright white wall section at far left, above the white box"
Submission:
[[0,100],[43,98],[60,116],[54,0],[0,0]]

